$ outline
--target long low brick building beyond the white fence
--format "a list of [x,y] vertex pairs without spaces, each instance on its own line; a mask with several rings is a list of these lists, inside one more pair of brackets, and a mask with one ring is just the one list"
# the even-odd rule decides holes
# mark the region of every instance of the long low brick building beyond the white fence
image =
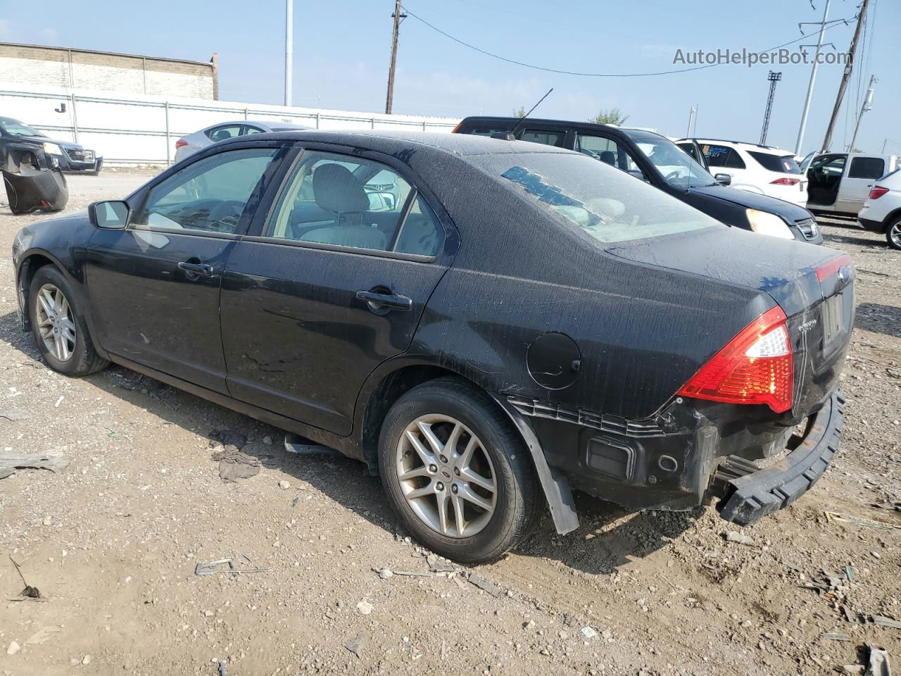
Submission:
[[208,62],[0,42],[0,82],[125,94],[219,98],[216,54]]

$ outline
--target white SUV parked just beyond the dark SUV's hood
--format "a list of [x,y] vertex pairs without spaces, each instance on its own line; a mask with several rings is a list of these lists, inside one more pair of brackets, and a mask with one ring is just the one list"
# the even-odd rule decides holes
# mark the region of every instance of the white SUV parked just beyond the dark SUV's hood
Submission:
[[730,187],[806,206],[807,179],[797,166],[794,153],[769,145],[719,139],[679,139],[677,144],[688,151],[692,142],[700,147],[710,173],[730,176]]

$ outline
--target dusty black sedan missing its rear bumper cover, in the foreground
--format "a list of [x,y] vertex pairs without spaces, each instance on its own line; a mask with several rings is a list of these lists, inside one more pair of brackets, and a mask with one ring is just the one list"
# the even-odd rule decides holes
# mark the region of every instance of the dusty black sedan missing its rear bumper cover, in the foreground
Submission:
[[[373,202],[367,186],[402,198]],[[571,489],[753,523],[838,447],[851,260],[623,171],[425,132],[217,143],[29,225],[23,329],[365,461],[432,551],[484,562]],[[753,460],[790,452],[766,469]]]

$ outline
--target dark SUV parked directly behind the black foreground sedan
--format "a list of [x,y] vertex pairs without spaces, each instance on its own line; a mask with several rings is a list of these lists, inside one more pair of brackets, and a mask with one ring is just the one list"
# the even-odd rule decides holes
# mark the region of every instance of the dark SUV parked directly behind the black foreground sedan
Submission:
[[[467,117],[454,131],[491,136],[509,132],[519,123],[517,117]],[[684,145],[689,147],[683,150],[696,161],[658,133],[609,124],[529,118],[515,136],[523,141],[569,148],[623,169],[726,225],[786,239],[794,237],[800,242],[823,242],[815,216],[804,207],[724,187],[722,184],[728,184],[731,177],[711,176],[705,168],[704,155],[694,142],[686,142]]]

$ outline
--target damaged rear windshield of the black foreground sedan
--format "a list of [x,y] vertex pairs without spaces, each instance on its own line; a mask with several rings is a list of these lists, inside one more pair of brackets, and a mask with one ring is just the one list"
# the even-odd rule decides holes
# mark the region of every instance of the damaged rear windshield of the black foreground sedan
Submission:
[[473,164],[598,242],[628,242],[725,227],[641,178],[570,153],[481,155]]

